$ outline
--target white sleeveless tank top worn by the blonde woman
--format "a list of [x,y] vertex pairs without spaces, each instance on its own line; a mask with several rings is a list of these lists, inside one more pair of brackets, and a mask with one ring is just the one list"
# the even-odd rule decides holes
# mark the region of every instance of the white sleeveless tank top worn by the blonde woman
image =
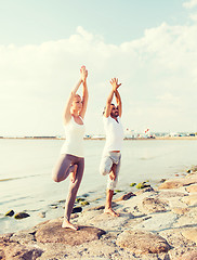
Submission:
[[84,123],[83,125],[77,123],[74,117],[71,116],[69,122],[64,127],[66,141],[62,146],[61,154],[70,154],[78,157],[84,157],[83,152]]

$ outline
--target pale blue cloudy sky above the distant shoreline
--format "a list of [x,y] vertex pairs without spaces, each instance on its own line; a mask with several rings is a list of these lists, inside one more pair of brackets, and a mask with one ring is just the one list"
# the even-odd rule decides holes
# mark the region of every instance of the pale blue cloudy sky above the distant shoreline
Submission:
[[0,135],[64,134],[81,65],[87,134],[114,77],[124,129],[197,131],[197,0],[0,0]]

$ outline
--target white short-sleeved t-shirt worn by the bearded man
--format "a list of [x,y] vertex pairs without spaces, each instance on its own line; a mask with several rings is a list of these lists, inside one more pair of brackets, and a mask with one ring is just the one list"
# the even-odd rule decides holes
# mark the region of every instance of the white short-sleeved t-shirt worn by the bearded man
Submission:
[[123,141],[123,127],[120,117],[117,117],[118,122],[110,116],[103,116],[104,129],[106,133],[105,152],[121,151]]

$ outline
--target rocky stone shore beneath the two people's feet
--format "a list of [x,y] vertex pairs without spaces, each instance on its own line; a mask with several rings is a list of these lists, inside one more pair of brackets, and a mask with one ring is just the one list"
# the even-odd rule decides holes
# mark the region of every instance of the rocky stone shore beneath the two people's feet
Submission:
[[73,213],[79,231],[62,229],[58,218],[1,235],[0,259],[197,259],[197,167],[157,188],[116,196],[114,208],[120,217],[83,206]]

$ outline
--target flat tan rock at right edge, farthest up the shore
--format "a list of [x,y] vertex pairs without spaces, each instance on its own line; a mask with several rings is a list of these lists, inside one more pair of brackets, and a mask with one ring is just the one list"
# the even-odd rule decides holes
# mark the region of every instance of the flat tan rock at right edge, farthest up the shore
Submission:
[[191,178],[191,179],[175,179],[175,180],[168,180],[163,182],[158,188],[178,188],[181,186],[187,186],[191,184],[197,183],[197,178]]

